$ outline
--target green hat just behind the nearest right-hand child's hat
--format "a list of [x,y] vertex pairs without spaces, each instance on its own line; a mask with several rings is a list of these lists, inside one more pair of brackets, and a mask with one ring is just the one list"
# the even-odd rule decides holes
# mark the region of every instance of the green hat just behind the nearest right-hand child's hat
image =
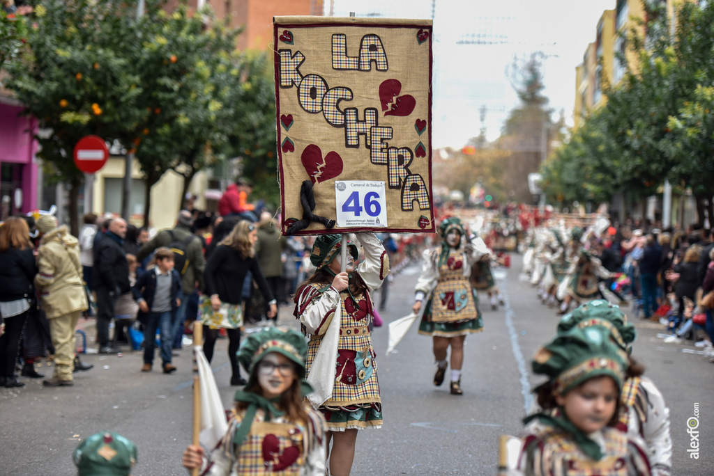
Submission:
[[628,323],[627,316],[620,307],[603,299],[595,299],[576,308],[570,314],[565,314],[558,323],[558,333],[566,333],[574,327],[590,326],[607,329],[610,337],[623,351],[631,348],[630,344],[637,337],[635,326]]

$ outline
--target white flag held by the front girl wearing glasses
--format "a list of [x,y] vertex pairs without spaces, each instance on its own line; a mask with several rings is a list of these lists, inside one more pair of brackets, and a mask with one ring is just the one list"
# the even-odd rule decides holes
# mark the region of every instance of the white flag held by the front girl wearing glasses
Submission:
[[198,382],[201,386],[201,433],[198,440],[203,447],[213,450],[228,431],[226,410],[223,408],[221,394],[218,393],[211,364],[203,354],[203,347],[195,346],[193,349],[196,351]]

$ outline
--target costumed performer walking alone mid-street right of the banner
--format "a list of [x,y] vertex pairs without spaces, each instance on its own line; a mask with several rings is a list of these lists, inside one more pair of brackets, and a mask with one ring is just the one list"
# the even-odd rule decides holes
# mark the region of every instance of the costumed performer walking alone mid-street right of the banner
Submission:
[[416,283],[414,314],[422,311],[419,333],[433,338],[436,358],[434,385],[441,386],[446,375],[446,352],[451,346],[451,393],[462,395],[461,364],[463,342],[470,333],[483,331],[478,296],[469,278],[471,267],[488,255],[481,238],[466,241],[461,219],[450,217],[439,226],[441,247],[423,254],[421,276]]

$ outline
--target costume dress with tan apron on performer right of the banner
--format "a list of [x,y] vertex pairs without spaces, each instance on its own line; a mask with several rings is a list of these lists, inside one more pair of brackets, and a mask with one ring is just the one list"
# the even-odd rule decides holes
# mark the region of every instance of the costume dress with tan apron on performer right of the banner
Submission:
[[471,267],[488,254],[483,240],[474,245],[449,249],[448,257],[439,264],[441,249],[424,254],[422,274],[416,290],[429,289],[419,333],[425,336],[456,337],[483,331],[483,319],[478,310],[478,296],[469,276]]

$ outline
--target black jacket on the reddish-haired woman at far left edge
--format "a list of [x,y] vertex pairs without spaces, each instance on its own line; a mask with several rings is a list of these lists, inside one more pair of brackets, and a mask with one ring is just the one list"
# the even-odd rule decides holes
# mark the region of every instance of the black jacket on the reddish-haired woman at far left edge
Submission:
[[36,274],[32,248],[8,248],[0,253],[0,301],[34,298]]

